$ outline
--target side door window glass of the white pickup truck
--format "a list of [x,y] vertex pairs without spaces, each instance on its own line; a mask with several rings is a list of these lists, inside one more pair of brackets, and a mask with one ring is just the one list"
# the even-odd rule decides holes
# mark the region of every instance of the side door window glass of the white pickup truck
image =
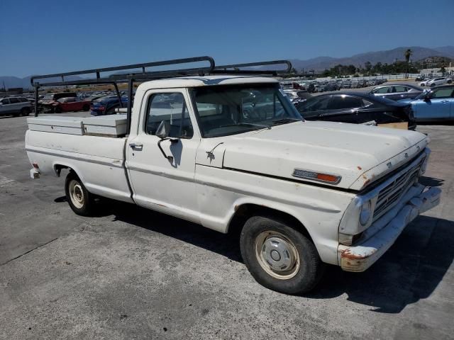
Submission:
[[155,135],[162,120],[170,123],[169,137],[191,138],[194,135],[187,105],[179,93],[153,94],[148,99],[145,132]]

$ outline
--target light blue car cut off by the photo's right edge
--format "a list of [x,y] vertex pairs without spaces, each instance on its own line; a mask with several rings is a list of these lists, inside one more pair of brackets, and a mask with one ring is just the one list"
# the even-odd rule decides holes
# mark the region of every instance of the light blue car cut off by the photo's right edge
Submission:
[[454,120],[454,85],[435,86],[414,99],[402,99],[399,103],[411,103],[416,122]]

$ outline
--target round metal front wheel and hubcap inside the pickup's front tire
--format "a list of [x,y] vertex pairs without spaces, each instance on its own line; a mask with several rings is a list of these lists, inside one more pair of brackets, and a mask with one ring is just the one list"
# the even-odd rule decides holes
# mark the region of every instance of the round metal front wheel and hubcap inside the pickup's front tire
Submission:
[[287,280],[299,271],[296,246],[279,232],[261,232],[255,239],[255,255],[260,266],[274,278]]

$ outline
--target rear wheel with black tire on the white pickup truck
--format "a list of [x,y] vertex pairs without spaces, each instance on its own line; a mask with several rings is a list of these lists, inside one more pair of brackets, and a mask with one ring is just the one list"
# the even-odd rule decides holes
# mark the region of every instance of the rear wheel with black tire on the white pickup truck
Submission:
[[80,216],[91,216],[94,210],[94,196],[87,191],[79,177],[70,171],[65,179],[66,199],[72,211]]

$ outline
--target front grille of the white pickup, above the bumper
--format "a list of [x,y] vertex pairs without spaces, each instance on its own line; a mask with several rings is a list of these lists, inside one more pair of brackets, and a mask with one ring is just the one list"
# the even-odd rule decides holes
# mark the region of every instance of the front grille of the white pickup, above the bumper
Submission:
[[424,162],[423,157],[418,163],[406,169],[403,174],[394,179],[391,183],[380,190],[378,194],[377,203],[375,204],[374,220],[384,215],[389,209],[399,201],[402,196],[413,185],[414,180],[417,178],[419,169]]

